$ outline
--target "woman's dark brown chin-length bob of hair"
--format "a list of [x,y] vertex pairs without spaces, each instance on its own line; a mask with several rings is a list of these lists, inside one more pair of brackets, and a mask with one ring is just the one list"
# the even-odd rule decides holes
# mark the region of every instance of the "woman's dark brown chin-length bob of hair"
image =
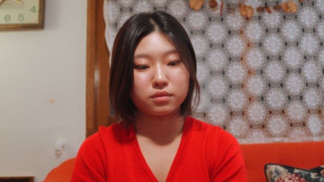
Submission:
[[129,18],[118,31],[111,56],[109,98],[118,121],[125,121],[127,125],[136,121],[137,112],[130,97],[134,81],[134,52],[142,38],[152,32],[163,33],[174,44],[189,73],[189,89],[180,106],[181,116],[190,115],[199,103],[196,57],[185,29],[168,13],[138,13]]

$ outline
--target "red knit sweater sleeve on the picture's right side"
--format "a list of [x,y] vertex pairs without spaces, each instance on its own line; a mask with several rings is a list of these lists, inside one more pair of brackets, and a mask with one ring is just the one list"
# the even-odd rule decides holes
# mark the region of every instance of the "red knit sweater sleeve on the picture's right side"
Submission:
[[238,142],[220,127],[210,129],[206,157],[211,181],[248,181]]

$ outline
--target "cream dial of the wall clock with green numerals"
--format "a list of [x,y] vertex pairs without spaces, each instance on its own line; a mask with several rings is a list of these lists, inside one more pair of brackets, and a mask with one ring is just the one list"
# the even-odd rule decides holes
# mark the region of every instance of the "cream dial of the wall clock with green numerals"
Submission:
[[0,26],[39,24],[42,4],[42,0],[0,0]]

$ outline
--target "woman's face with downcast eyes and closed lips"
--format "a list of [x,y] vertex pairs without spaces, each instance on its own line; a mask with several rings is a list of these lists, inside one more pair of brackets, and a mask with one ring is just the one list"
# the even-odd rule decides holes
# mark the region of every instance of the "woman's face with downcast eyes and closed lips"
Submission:
[[189,73],[174,45],[153,32],[135,49],[131,99],[138,114],[180,114],[189,87]]

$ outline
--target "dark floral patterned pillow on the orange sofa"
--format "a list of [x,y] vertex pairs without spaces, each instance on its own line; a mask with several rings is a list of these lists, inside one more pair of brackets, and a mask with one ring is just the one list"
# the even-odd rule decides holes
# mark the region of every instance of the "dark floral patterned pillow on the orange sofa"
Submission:
[[300,169],[280,164],[266,164],[264,172],[268,182],[324,182],[324,165]]

